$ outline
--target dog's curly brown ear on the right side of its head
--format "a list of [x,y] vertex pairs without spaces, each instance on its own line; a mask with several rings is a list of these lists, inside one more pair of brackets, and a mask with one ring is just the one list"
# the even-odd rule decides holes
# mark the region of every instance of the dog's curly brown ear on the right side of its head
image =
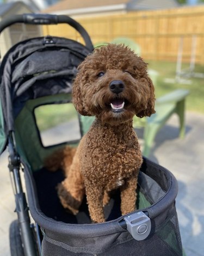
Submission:
[[154,86],[152,84],[152,80],[149,78],[149,76],[146,77],[148,86],[150,88],[150,96],[147,99],[147,107],[146,109],[141,110],[136,116],[138,117],[144,117],[144,116],[151,116],[156,111],[154,110],[154,103],[155,103],[155,95],[154,95]]

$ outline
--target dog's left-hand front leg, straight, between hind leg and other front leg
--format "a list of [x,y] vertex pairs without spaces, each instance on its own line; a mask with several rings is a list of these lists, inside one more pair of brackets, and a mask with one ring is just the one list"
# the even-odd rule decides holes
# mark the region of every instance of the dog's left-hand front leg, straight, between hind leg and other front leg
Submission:
[[89,205],[89,214],[93,222],[105,222],[103,213],[104,189],[100,186],[86,186],[86,198]]

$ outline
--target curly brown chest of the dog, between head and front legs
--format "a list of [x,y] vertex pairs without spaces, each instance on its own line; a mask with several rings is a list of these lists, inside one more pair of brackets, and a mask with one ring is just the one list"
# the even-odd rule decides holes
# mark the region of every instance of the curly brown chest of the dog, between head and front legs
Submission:
[[86,135],[84,152],[84,175],[100,181],[108,187],[119,187],[133,172],[138,170],[141,161],[137,135],[107,131]]

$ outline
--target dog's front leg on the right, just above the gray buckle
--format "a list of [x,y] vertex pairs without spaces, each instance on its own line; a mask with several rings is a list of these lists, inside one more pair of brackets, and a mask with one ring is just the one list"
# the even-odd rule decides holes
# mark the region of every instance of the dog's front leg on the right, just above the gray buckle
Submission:
[[138,178],[133,176],[125,181],[121,187],[121,213],[126,215],[135,210],[135,203],[137,199],[137,181]]

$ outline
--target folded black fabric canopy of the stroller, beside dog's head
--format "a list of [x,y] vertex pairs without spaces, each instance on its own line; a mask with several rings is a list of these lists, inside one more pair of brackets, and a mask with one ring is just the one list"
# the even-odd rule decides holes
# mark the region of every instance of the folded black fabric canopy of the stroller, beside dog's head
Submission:
[[91,51],[77,41],[50,36],[22,41],[9,50],[0,67],[0,153],[27,100],[71,93],[77,67]]

